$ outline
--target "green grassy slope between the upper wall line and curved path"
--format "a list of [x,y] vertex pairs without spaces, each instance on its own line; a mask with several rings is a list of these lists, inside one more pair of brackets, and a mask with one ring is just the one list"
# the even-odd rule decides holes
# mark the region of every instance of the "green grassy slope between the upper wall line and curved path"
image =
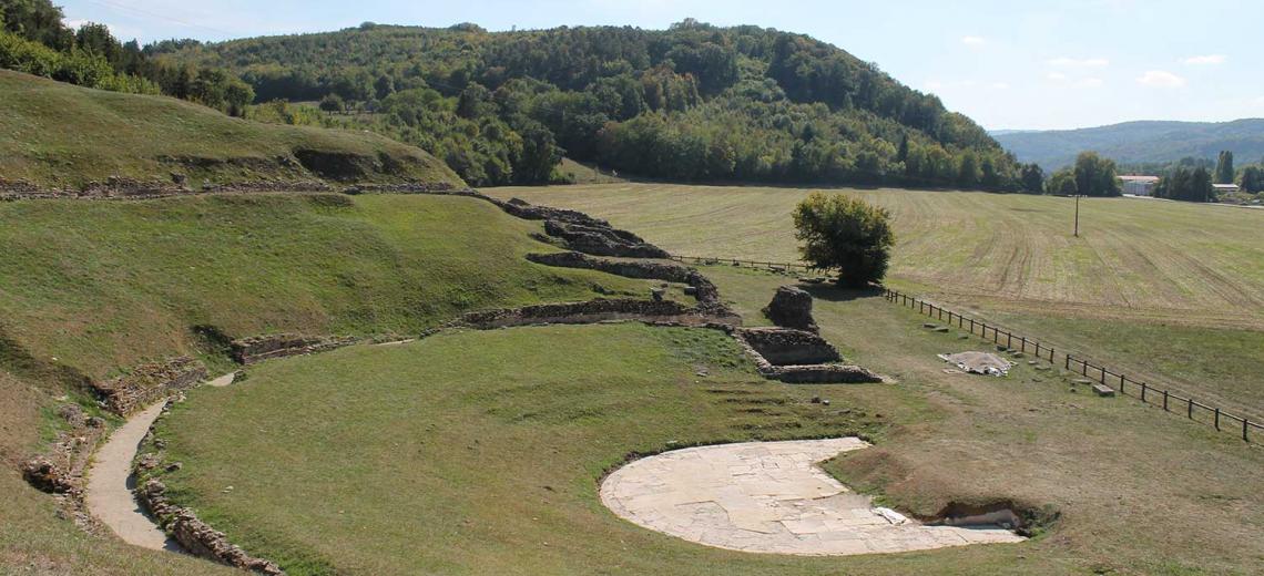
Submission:
[[0,572],[215,571],[90,537],[18,474],[56,432],[63,397],[82,398],[81,378],[179,354],[231,369],[195,326],[406,336],[463,311],[647,293],[648,282],[527,261],[555,250],[528,237],[541,230],[439,196],[0,202]]

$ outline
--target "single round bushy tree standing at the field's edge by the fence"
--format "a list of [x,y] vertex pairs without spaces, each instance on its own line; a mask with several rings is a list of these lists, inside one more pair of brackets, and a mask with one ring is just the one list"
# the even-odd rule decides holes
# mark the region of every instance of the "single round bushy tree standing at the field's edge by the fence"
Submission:
[[815,268],[838,269],[838,284],[863,288],[881,282],[895,234],[891,215],[862,200],[813,192],[794,211],[795,237],[804,260]]

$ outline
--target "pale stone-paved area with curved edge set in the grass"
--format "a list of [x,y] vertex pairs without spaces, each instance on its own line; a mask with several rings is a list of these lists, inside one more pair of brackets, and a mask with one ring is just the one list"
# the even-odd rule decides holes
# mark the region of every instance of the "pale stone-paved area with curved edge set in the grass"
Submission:
[[1000,527],[892,523],[817,466],[868,446],[827,438],[664,452],[607,476],[602,503],[641,527],[746,552],[846,556],[1024,539]]

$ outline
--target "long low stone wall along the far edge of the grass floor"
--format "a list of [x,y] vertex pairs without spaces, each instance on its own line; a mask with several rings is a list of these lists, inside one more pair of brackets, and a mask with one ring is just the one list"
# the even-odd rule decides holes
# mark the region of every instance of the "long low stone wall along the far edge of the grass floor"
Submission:
[[470,312],[461,316],[455,325],[499,328],[542,323],[597,323],[614,320],[637,320],[680,326],[737,325],[742,321],[736,315],[712,315],[679,302],[619,298]]

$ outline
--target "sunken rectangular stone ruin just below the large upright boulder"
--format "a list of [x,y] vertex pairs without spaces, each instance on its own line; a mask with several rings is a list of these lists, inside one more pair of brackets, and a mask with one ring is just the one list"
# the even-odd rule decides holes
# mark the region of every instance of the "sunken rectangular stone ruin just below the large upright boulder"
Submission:
[[841,363],[838,350],[820,336],[791,328],[736,328],[742,349],[765,378],[791,384],[862,384],[882,378]]

